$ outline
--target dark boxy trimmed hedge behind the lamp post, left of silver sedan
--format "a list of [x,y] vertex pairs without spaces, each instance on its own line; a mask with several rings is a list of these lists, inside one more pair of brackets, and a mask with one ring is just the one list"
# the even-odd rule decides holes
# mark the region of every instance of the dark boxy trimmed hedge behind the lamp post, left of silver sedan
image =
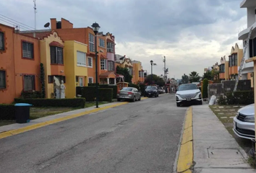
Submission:
[[[77,94],[82,95],[87,102],[95,102],[96,87],[95,86],[77,86]],[[98,101],[99,102],[112,102],[113,89],[111,88],[98,88]]]

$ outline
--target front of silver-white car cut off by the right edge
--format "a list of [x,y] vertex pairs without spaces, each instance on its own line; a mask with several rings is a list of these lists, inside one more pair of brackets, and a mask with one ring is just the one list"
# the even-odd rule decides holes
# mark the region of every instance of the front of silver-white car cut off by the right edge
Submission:
[[236,136],[255,140],[255,104],[239,109],[233,123]]

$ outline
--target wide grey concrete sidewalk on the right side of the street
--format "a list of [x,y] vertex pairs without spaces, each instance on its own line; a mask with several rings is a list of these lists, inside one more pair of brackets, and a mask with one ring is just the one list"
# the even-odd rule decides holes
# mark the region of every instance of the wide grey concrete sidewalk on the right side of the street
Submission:
[[208,105],[192,107],[194,171],[251,173],[247,154],[236,143]]

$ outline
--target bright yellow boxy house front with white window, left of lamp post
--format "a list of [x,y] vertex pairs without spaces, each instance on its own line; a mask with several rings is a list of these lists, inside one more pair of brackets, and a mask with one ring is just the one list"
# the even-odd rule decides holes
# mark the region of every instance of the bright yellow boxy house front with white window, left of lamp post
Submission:
[[74,40],[64,43],[67,98],[76,97],[76,86],[88,86],[87,46]]

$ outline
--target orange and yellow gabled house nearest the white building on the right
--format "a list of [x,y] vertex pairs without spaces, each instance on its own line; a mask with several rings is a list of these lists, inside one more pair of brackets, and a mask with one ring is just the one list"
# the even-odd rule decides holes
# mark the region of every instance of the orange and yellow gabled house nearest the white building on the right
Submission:
[[238,68],[242,61],[243,50],[236,44],[231,48],[229,56],[229,79],[236,79],[238,77]]

